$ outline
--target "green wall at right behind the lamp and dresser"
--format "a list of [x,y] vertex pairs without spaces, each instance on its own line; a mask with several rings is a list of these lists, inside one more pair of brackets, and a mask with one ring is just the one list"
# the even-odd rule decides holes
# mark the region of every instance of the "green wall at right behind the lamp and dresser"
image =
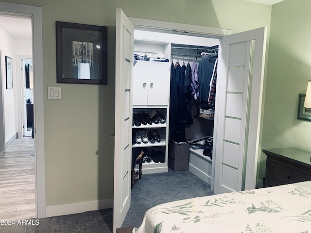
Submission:
[[[311,1],[285,0],[272,7],[262,149],[311,151],[311,121],[297,119],[298,96],[311,80]],[[259,178],[265,176],[265,154]]]

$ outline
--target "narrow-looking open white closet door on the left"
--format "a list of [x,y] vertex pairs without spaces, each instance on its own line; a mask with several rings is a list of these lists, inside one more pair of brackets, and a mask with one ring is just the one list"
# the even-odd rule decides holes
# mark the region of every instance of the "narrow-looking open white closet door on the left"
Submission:
[[116,96],[113,232],[121,227],[131,202],[132,70],[134,25],[121,9],[116,17]]

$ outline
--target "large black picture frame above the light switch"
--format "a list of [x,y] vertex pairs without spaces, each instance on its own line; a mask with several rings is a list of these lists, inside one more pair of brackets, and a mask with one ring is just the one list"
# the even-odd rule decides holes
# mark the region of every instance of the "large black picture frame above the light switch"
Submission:
[[56,21],[56,82],[107,84],[107,27]]

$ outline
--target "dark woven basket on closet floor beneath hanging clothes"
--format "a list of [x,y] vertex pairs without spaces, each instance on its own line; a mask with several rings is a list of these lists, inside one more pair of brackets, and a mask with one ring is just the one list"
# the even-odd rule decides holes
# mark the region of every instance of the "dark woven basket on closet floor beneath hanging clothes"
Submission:
[[189,165],[189,141],[171,142],[168,166],[173,171],[187,171]]

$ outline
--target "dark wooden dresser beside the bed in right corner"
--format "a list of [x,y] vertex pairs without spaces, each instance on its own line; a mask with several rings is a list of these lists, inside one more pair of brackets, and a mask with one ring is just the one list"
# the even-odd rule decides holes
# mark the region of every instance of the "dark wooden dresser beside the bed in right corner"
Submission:
[[262,152],[267,155],[265,187],[311,180],[311,152],[295,148]]

